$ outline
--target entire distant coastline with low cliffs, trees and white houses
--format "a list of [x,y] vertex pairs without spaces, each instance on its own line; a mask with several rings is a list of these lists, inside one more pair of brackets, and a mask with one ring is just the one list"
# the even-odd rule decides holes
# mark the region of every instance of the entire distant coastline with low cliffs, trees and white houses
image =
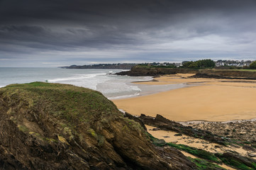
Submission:
[[152,62],[152,63],[124,63],[124,64],[91,64],[71,65],[61,67],[65,69],[130,69],[118,72],[117,75],[138,76],[160,76],[165,74],[196,74],[196,78],[215,79],[256,79],[256,61],[250,60],[218,60],[210,59],[197,61],[184,61],[181,63]]

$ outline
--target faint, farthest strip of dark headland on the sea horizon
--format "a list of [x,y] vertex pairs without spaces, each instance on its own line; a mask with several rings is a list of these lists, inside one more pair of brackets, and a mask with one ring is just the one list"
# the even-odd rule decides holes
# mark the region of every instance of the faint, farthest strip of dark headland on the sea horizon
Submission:
[[60,67],[62,69],[131,69],[136,64],[91,64],[91,65],[71,65]]

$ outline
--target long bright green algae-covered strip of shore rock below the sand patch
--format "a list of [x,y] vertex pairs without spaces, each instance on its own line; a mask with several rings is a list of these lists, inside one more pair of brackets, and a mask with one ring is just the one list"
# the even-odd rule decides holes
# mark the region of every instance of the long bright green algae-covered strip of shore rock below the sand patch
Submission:
[[211,162],[221,163],[221,160],[218,159],[218,157],[216,157],[213,153],[207,152],[203,149],[197,149],[195,147],[189,147],[187,145],[177,145],[171,142],[167,143],[167,145],[182,150],[184,152],[188,152],[189,154],[193,154],[196,157],[207,159]]

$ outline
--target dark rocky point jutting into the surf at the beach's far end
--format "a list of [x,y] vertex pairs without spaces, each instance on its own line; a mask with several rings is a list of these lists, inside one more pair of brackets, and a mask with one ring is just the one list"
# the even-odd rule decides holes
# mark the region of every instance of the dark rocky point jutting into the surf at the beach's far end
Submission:
[[128,75],[128,76],[159,76],[165,74],[177,74],[177,73],[198,73],[196,69],[180,69],[180,68],[157,68],[157,67],[141,67],[135,66],[128,72],[119,72],[117,75]]

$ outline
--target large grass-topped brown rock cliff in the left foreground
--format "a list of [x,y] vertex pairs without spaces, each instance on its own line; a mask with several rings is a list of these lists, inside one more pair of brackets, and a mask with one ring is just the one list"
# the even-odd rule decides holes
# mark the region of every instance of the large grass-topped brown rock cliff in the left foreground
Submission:
[[64,84],[0,89],[0,169],[194,169],[153,146],[97,91]]

